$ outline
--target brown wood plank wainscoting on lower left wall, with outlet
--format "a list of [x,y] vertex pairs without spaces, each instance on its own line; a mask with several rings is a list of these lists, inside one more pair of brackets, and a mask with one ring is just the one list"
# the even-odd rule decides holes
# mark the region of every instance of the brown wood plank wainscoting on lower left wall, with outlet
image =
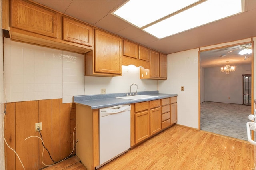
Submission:
[[[48,99],[7,103],[5,115],[5,138],[18,155],[25,169],[41,169],[53,164],[35,132],[35,123],[42,122],[44,146],[54,161],[66,158],[72,150],[72,135],[76,126],[76,104],[62,103],[62,99]],[[75,131],[76,132],[76,131]],[[28,138],[24,141],[24,139]],[[76,133],[74,133],[76,142]],[[76,151],[72,155],[76,154]],[[5,145],[5,162],[8,170],[21,170],[22,165],[15,153]]]

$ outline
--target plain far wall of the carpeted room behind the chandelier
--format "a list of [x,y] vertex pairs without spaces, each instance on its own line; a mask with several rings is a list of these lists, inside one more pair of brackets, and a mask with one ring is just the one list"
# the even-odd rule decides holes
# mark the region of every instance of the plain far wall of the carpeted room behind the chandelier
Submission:
[[220,72],[220,67],[205,68],[205,101],[242,104],[242,74],[250,73],[251,64],[236,65],[229,74]]

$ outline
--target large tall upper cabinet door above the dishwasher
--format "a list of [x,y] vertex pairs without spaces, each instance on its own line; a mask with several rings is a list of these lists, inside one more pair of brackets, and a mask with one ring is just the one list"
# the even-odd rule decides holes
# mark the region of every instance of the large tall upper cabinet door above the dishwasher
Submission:
[[95,30],[95,72],[122,74],[121,44],[121,38]]

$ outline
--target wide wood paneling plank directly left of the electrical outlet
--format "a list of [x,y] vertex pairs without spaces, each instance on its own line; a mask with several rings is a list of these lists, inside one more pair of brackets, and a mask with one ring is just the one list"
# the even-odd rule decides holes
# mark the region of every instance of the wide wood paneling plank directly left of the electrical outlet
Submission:
[[[38,132],[35,132],[35,123],[38,121],[38,101],[16,102],[16,152],[25,169],[38,169],[39,167],[39,139],[29,138],[24,141],[30,136],[38,136]],[[23,169],[18,158],[16,158],[16,169]]]

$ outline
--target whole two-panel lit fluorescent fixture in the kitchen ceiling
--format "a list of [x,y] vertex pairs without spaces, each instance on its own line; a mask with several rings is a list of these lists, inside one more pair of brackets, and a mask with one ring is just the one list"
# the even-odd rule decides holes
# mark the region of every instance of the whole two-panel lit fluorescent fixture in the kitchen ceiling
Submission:
[[[142,28],[197,1],[130,0],[114,14]],[[240,12],[242,12],[241,0],[207,0],[143,30],[161,39]]]

